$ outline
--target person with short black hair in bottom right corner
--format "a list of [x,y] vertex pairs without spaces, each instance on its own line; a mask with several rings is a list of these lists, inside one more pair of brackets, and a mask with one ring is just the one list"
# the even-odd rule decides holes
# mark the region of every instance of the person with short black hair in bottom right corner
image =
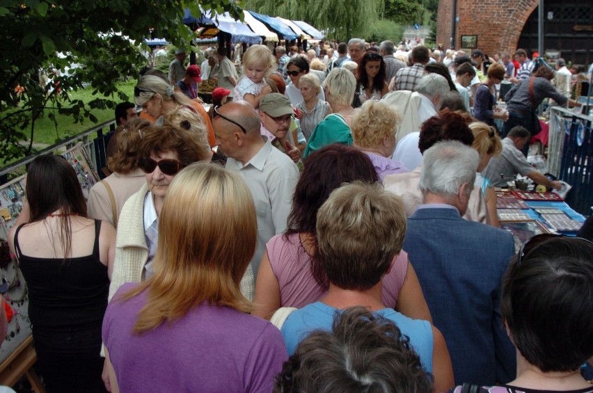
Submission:
[[590,393],[580,366],[593,355],[593,243],[540,234],[511,262],[500,310],[517,351],[506,385],[459,392]]

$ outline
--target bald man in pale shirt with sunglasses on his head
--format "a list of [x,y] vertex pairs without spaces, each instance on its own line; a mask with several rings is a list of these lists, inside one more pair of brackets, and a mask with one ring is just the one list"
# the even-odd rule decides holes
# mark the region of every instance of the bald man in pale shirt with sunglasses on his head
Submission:
[[257,277],[266,243],[286,230],[299,170],[260,134],[258,113],[247,102],[230,102],[215,109],[212,125],[216,145],[228,157],[226,168],[239,172],[255,202],[259,236],[251,267]]

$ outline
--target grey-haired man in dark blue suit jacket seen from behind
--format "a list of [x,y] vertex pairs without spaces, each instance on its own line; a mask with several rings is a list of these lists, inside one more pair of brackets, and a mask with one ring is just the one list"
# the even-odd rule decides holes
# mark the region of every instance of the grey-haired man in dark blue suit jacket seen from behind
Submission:
[[500,286],[514,241],[509,232],[461,218],[478,155],[457,141],[424,153],[424,204],[408,218],[404,250],[434,326],[443,332],[456,384],[493,385],[515,376],[514,346],[500,316]]

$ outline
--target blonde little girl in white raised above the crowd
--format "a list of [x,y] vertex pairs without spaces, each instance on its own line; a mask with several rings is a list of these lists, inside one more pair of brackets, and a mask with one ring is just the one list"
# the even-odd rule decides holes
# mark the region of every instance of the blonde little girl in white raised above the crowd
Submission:
[[274,69],[274,56],[265,45],[252,45],[243,56],[243,77],[235,86],[235,99],[243,99],[258,109],[260,99],[271,93],[264,80]]

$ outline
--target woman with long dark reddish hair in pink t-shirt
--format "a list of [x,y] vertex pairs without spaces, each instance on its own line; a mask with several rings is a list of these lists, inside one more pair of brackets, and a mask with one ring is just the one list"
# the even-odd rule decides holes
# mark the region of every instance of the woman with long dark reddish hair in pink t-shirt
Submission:
[[[270,319],[280,307],[303,307],[325,294],[329,282],[317,256],[317,210],[331,191],[354,180],[379,182],[370,159],[354,147],[328,145],[306,159],[294,191],[288,230],[270,239],[262,257],[253,315]],[[404,251],[384,277],[381,298],[386,306],[410,318],[432,322]]]

